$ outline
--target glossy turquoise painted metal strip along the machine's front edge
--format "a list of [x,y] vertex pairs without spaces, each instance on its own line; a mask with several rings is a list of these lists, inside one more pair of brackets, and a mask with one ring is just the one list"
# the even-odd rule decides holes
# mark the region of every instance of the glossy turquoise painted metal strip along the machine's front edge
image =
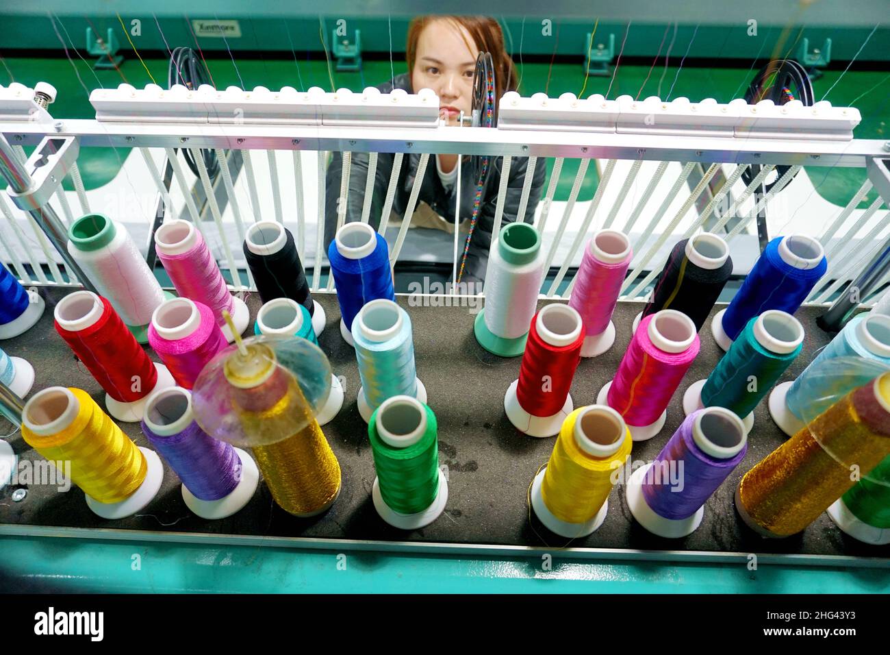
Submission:
[[886,593],[890,569],[676,564],[305,551],[0,538],[0,579],[20,590],[314,594]]

